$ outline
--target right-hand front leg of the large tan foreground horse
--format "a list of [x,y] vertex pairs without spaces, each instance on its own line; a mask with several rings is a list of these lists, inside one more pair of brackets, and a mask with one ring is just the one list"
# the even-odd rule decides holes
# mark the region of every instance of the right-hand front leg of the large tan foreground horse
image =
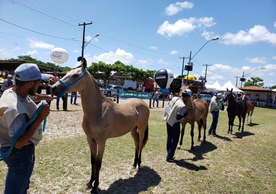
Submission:
[[100,176],[100,170],[102,167],[102,160],[103,160],[103,155],[105,151],[105,146],[106,146],[106,139],[102,138],[100,141],[97,142],[98,145],[98,152],[97,152],[97,158],[96,158],[96,163],[95,163],[95,182],[94,186],[91,190],[91,194],[96,194],[97,193],[97,188],[99,186],[99,176]]

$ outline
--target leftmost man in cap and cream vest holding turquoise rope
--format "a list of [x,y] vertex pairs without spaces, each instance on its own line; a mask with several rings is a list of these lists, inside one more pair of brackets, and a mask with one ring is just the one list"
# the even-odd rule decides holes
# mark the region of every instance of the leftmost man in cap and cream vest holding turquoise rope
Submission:
[[[15,86],[7,89],[0,98],[0,106],[7,107],[0,116],[1,155],[9,150],[14,135],[37,110],[34,101],[50,98],[36,94],[42,77],[36,64],[19,65],[14,73]],[[42,121],[49,113],[46,103],[26,131],[17,139],[11,155],[4,159],[8,166],[4,194],[27,194],[35,161],[34,146],[42,140]]]

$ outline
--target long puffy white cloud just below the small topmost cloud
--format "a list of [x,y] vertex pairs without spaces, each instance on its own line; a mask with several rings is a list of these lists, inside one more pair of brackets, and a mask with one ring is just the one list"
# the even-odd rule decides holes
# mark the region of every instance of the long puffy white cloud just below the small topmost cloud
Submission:
[[182,36],[192,32],[196,28],[214,26],[216,23],[213,22],[213,20],[213,17],[190,17],[188,19],[179,19],[174,24],[165,21],[161,26],[159,26],[157,33],[166,37],[172,37],[175,35]]

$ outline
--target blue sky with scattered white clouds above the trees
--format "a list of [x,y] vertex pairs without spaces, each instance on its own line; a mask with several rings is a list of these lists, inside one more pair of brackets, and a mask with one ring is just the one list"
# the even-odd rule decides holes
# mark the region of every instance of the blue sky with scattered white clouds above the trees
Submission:
[[181,75],[180,58],[219,37],[192,59],[189,75],[204,76],[207,64],[210,83],[230,80],[240,86],[245,72],[246,79],[260,77],[264,86],[273,86],[275,10],[276,0],[0,0],[0,59],[31,55],[53,63],[51,50],[63,48],[69,59],[61,65],[76,67],[83,35],[78,24],[92,22],[86,26],[86,42],[100,35],[84,49],[89,64],[119,60]]

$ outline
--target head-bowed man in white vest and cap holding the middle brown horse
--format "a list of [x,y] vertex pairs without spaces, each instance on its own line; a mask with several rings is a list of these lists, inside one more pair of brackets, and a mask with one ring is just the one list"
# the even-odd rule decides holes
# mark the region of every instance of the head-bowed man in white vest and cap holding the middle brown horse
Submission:
[[167,162],[175,162],[174,153],[180,136],[180,119],[188,115],[183,101],[192,96],[192,91],[186,89],[181,97],[173,97],[165,110],[164,119],[167,121]]

